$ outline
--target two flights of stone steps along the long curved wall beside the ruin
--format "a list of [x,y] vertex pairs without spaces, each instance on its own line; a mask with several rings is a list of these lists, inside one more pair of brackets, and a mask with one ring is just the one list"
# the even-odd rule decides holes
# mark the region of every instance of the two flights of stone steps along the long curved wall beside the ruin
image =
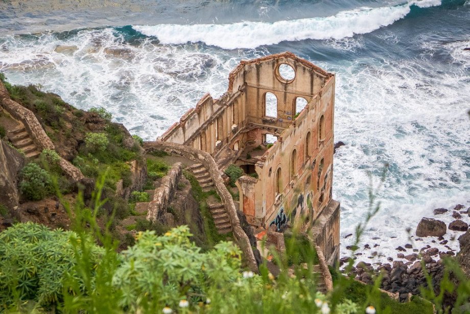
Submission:
[[[210,174],[204,165],[195,164],[189,167],[189,170],[193,172],[204,192],[215,190],[214,181],[212,180],[212,177],[210,177]],[[212,214],[212,217],[214,218],[214,223],[216,224],[219,234],[227,234],[231,232],[232,227],[225,210],[225,205],[222,203],[208,203],[207,206],[209,207],[210,214]]]

